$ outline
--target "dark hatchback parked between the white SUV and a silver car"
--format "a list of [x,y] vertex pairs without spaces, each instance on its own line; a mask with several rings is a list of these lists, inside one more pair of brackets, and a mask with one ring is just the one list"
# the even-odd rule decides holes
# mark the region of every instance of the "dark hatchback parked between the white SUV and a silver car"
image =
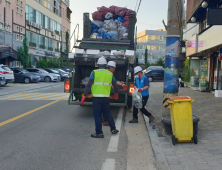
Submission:
[[14,77],[16,83],[24,82],[28,83],[36,83],[40,81],[40,76],[33,75],[29,71],[21,68],[11,68],[14,72]]

